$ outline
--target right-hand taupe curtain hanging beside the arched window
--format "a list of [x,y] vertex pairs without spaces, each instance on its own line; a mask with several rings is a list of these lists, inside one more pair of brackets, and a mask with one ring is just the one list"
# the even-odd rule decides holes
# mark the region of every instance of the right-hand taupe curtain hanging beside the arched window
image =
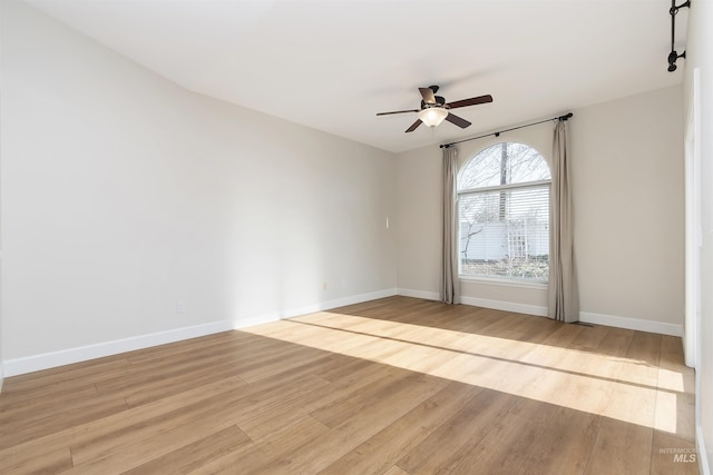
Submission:
[[547,313],[550,318],[566,323],[579,319],[569,161],[567,121],[560,119],[553,144]]

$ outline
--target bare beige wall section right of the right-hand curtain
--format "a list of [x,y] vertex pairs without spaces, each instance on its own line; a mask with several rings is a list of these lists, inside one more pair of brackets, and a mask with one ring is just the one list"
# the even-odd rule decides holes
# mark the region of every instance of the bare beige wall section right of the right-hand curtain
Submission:
[[682,90],[577,110],[575,247],[585,313],[682,325]]

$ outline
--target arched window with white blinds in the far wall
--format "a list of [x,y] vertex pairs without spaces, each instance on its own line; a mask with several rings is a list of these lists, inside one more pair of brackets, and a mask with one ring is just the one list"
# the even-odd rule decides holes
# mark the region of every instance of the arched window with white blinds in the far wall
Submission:
[[458,178],[462,276],[547,281],[549,167],[534,148],[496,144]]

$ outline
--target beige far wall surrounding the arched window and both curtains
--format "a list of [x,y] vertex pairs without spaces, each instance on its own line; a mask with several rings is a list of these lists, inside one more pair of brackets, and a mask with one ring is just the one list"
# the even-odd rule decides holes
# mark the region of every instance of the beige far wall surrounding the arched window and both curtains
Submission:
[[[683,121],[672,87],[574,110],[569,121],[582,318],[676,334],[683,319]],[[504,127],[506,128],[506,127]],[[550,160],[553,125],[459,145],[462,164],[500,141]],[[478,133],[481,135],[481,133]],[[438,297],[441,151],[398,157],[399,288]],[[461,281],[463,301],[543,315],[544,286]]]

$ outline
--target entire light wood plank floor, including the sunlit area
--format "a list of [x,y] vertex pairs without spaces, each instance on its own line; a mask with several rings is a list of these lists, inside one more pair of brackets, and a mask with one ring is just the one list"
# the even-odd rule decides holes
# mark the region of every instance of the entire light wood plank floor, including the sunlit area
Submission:
[[0,472],[697,473],[681,339],[390,297],[22,375]]

